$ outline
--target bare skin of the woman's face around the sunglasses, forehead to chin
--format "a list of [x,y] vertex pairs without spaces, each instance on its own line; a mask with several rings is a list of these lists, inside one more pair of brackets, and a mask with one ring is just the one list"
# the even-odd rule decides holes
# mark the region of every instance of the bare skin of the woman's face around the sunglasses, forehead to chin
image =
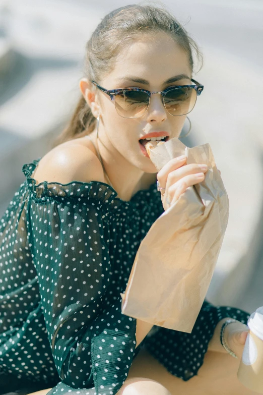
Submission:
[[[166,80],[184,75],[172,83]],[[143,79],[145,82],[135,82]],[[168,35],[160,33],[153,39],[145,36],[119,54],[114,70],[103,80],[96,81],[106,89],[139,87],[149,91],[162,91],[170,86],[190,84],[191,70],[186,52]],[[99,91],[101,121],[99,139],[112,152],[114,158],[122,157],[146,173],[156,173],[156,168],[142,151],[139,140],[151,132],[167,132],[169,139],[178,137],[186,115],[172,116],[165,109],[162,96],[152,95],[150,105],[140,118],[127,119],[118,115],[114,102]]]

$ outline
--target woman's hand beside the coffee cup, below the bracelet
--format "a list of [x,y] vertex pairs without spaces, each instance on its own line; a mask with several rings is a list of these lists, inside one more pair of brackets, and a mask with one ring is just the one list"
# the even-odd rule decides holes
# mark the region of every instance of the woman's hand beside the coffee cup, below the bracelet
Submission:
[[225,328],[225,342],[239,359],[243,354],[248,330],[248,326],[240,321],[231,322]]

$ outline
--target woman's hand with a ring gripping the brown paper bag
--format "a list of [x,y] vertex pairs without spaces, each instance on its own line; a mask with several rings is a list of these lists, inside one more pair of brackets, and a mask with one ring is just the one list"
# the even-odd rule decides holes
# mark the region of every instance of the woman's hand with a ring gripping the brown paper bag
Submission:
[[206,164],[202,168],[202,164],[185,164],[185,162],[185,155],[182,159],[173,158],[157,173],[160,187],[165,188],[165,191],[161,189],[161,199],[165,210],[174,204],[189,186],[205,180],[204,173],[208,170]]

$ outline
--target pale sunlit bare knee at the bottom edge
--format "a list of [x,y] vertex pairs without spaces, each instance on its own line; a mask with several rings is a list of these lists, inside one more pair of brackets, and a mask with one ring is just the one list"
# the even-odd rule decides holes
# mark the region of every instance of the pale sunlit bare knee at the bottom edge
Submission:
[[134,377],[125,380],[122,387],[116,393],[116,395],[171,395],[162,384],[158,381],[144,378]]

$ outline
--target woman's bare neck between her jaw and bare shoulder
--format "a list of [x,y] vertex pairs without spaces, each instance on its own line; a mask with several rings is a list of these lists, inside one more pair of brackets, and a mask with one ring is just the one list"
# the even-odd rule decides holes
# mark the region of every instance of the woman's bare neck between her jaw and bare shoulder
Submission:
[[93,141],[95,139],[95,142],[97,142],[97,148],[103,160],[107,176],[119,198],[129,201],[136,192],[141,189],[148,189],[155,182],[155,173],[143,172],[128,162],[114,147],[112,147],[112,150],[109,150],[110,142],[106,146],[100,138],[96,141],[95,134],[94,136],[92,135],[93,133],[91,134]]

